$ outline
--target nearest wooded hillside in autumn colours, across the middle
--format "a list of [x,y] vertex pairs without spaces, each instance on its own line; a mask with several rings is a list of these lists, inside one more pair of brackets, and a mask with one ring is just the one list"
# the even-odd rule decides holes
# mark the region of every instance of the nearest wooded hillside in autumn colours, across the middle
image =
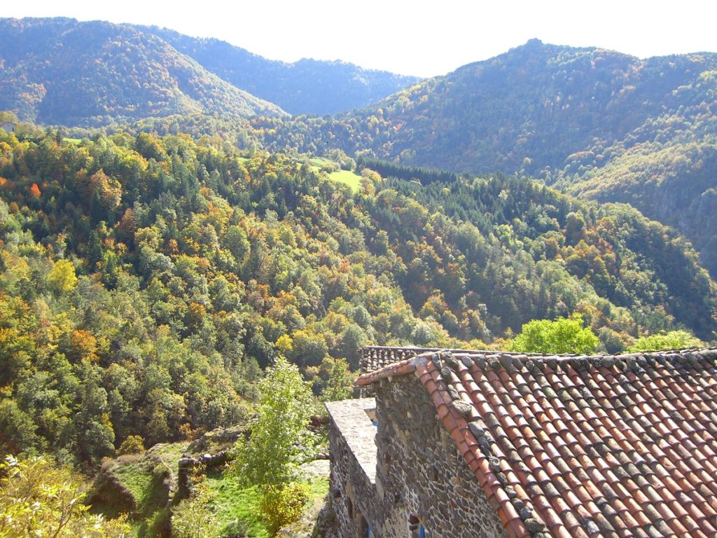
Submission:
[[2,135],[0,159],[4,451],[94,466],[128,435],[236,423],[277,354],[321,394],[361,344],[482,347],[573,312],[609,351],[716,329],[714,284],[671,232],[532,181],[366,169],[353,192],[282,154],[146,133]]

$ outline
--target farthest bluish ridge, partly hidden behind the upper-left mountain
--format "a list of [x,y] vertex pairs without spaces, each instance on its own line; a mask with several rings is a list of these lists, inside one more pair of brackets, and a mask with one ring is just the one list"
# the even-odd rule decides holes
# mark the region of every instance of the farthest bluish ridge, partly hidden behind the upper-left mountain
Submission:
[[206,70],[292,114],[346,112],[375,103],[421,80],[340,61],[267,60],[219,39],[189,37],[158,27],[136,28],[161,37]]

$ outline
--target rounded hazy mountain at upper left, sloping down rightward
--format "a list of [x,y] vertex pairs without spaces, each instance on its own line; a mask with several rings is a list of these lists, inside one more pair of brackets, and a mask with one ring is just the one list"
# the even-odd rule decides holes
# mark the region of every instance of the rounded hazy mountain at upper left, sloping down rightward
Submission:
[[285,115],[153,34],[74,19],[0,19],[0,110],[102,125],[176,113]]

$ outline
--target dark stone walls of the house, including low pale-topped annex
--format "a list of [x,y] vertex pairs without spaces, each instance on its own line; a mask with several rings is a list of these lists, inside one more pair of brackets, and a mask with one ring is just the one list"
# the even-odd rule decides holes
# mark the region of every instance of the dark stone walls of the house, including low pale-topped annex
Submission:
[[[341,538],[507,538],[498,514],[413,375],[372,399],[327,404],[329,496]],[[366,409],[375,405],[378,427]],[[370,437],[369,437],[370,434]],[[375,441],[374,441],[375,436]]]

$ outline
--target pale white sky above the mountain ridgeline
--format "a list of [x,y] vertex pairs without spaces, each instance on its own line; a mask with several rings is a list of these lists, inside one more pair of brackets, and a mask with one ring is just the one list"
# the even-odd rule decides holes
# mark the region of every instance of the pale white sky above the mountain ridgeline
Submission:
[[0,16],[156,24],[217,37],[273,60],[345,60],[443,75],[538,37],[648,57],[717,52],[717,1],[255,0],[4,2]]

